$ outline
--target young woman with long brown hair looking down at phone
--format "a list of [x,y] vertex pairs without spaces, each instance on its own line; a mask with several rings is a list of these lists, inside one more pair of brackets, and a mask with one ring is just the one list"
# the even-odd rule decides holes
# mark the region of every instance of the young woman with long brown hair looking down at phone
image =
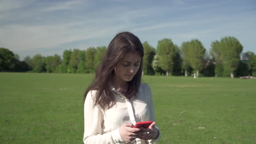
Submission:
[[[84,143],[157,143],[152,92],[141,83],[143,46],[132,33],[118,33],[84,98]],[[148,128],[137,122],[153,121]]]

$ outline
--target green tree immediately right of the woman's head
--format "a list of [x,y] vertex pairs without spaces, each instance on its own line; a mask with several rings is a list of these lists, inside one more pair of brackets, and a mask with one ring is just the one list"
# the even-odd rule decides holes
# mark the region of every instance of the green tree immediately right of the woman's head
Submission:
[[142,45],[144,47],[143,74],[154,75],[152,62],[155,56],[155,49],[148,44],[148,41],[145,41]]

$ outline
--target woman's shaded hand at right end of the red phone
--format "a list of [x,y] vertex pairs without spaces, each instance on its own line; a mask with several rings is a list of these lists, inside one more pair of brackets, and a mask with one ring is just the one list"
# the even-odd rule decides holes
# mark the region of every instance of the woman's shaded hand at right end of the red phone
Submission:
[[139,139],[153,140],[158,138],[159,130],[155,127],[155,122],[149,125],[147,129],[142,129],[143,133],[138,136]]

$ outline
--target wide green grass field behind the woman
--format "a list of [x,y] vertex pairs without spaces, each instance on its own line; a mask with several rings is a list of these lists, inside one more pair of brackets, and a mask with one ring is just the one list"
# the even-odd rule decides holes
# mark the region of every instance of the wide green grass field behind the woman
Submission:
[[[83,143],[93,75],[0,73],[0,143]],[[159,143],[256,143],[256,80],[143,76]]]

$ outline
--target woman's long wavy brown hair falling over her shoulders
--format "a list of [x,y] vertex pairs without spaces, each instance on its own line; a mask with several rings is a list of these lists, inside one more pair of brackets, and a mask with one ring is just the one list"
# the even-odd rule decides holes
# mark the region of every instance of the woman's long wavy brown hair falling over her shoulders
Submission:
[[141,56],[139,69],[133,79],[127,82],[127,91],[125,92],[125,97],[128,99],[136,96],[141,83],[143,69],[143,46],[136,35],[130,32],[121,32],[115,35],[108,45],[107,52],[96,69],[94,80],[86,89],[84,100],[90,91],[96,90],[95,105],[100,105],[102,109],[110,109],[116,104],[113,91],[110,88],[111,82],[115,74],[115,66],[127,52],[138,53]]

